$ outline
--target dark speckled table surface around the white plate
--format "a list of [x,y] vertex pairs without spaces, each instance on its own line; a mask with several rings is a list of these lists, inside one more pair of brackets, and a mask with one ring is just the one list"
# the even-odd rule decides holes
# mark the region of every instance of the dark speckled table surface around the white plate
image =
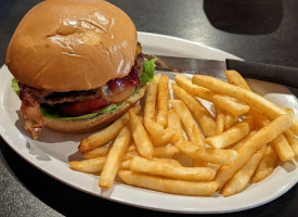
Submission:
[[[0,65],[23,15],[38,0],[0,0]],[[242,59],[298,67],[296,0],[113,0],[138,30],[176,36]],[[0,75],[1,76],[1,75]],[[291,91],[298,95],[297,89]],[[0,120],[1,122],[1,120]],[[298,186],[249,210],[222,216],[298,216]],[[0,216],[174,216],[75,190],[38,170],[0,138]]]

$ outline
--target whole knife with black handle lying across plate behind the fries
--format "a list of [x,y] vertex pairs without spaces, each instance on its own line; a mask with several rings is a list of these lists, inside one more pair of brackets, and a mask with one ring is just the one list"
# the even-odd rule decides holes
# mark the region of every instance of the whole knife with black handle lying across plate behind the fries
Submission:
[[224,71],[235,69],[245,78],[255,78],[298,88],[298,68],[248,61],[226,59],[225,61],[177,58],[144,54],[147,60],[156,59],[157,71],[202,74],[226,78]]

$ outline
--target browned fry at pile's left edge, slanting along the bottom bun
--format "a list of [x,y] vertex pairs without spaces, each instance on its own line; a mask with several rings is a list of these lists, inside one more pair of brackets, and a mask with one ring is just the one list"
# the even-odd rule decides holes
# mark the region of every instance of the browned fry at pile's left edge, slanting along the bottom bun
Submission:
[[[132,108],[134,113],[139,113],[141,111],[141,106],[137,105],[133,106]],[[126,113],[122,115],[120,118],[118,118],[116,122],[114,122],[112,125],[108,127],[90,135],[89,137],[85,138],[81,140],[79,144],[79,151],[85,154],[86,152],[93,150],[98,146],[104,145],[106,142],[113,140],[116,138],[118,132],[122,129],[122,127],[128,123],[129,120],[129,114]]]

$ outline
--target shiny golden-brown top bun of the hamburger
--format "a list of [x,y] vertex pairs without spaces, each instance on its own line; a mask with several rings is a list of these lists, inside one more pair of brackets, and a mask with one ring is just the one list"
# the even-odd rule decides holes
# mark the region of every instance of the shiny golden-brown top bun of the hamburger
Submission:
[[102,0],[47,0],[17,26],[5,64],[21,82],[53,91],[89,90],[129,74],[137,30]]

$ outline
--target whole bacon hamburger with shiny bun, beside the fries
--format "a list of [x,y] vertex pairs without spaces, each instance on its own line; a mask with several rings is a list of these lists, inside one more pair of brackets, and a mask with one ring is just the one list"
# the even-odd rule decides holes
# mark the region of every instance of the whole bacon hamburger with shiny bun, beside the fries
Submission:
[[154,62],[143,58],[130,17],[102,0],[47,0],[18,24],[5,65],[22,101],[24,127],[89,132],[144,94]]

